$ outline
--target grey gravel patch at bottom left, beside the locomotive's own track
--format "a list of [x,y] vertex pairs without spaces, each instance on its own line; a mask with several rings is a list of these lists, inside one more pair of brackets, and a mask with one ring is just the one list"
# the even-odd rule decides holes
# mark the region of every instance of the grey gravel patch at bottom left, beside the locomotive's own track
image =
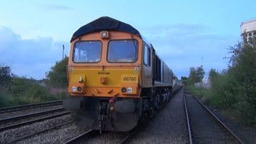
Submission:
[[19,143],[65,143],[67,140],[74,138],[81,133],[83,133],[83,130],[72,123],[63,125],[61,128],[51,130],[48,133],[42,133],[33,138],[19,141]]

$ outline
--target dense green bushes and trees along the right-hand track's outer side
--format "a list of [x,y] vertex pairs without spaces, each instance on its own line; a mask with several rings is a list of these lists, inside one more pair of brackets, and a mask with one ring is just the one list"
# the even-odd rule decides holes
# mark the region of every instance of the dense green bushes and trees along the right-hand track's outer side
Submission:
[[230,47],[230,53],[227,70],[210,70],[210,89],[195,88],[189,81],[186,88],[205,104],[232,110],[237,119],[256,126],[256,38]]

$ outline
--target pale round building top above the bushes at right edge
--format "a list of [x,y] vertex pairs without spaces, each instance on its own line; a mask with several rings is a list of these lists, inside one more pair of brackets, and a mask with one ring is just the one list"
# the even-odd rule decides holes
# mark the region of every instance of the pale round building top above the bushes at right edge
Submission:
[[253,36],[256,36],[256,19],[242,22],[241,36],[246,41],[251,41]]

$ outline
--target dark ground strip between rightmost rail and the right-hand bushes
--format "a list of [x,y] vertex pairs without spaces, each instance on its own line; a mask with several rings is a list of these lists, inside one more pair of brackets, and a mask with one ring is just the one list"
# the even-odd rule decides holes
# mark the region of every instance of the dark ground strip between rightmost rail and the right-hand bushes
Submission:
[[231,118],[227,115],[225,110],[220,108],[211,108],[210,110],[220,118],[230,130],[232,130],[244,143],[256,143],[256,128],[252,126],[246,126],[240,123],[235,118]]

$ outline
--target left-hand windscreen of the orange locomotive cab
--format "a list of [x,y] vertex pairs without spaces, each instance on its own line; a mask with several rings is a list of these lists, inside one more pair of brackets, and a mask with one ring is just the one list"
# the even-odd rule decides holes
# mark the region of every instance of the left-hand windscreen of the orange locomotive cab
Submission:
[[73,62],[98,63],[101,61],[101,41],[78,41],[74,46]]

